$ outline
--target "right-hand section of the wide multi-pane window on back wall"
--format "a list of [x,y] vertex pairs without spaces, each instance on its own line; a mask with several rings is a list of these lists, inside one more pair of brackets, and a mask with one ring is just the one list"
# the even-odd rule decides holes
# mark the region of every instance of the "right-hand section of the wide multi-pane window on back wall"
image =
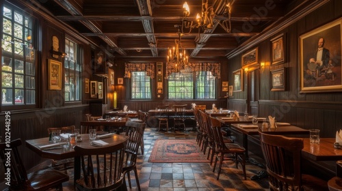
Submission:
[[196,72],[196,99],[215,99],[216,80],[209,71]]

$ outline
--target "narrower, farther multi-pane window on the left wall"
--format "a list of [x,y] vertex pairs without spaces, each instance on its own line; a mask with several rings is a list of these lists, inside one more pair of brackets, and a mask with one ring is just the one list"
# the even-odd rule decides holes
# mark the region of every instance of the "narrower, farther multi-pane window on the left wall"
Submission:
[[66,39],[65,51],[68,55],[64,61],[65,101],[81,100],[81,50],[75,42]]

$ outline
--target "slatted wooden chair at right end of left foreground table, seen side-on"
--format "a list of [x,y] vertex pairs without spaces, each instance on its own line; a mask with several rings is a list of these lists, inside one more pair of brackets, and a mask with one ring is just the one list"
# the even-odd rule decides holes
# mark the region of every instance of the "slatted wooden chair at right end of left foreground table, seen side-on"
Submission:
[[146,123],[127,121],[126,122],[126,136],[129,136],[127,142],[127,147],[125,150],[126,156],[124,160],[124,171],[126,172],[129,188],[131,187],[131,176],[130,172],[133,171],[135,175],[135,180],[137,182],[137,190],[140,190],[139,177],[137,176],[137,152],[139,151],[139,146],[141,145],[144,137],[144,131],[146,128]]

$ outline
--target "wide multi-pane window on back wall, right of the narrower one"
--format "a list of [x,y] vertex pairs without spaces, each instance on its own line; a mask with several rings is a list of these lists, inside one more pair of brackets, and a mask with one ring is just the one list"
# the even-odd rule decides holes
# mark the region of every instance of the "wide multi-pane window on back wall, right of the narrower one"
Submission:
[[172,73],[168,77],[168,99],[216,98],[216,78],[209,71]]

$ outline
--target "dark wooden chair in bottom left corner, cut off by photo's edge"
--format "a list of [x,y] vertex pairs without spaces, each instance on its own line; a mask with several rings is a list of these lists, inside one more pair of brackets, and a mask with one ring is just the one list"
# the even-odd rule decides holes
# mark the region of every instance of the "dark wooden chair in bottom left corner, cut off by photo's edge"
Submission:
[[[60,171],[44,168],[27,174],[18,151],[20,145],[21,139],[16,139],[10,143],[0,143],[0,156],[3,165],[8,166],[7,162],[10,162],[11,165],[9,167],[10,172],[8,172],[11,177],[9,190],[48,190],[49,188],[63,190],[62,183],[68,181],[69,176]],[[8,155],[9,152],[10,155]]]

